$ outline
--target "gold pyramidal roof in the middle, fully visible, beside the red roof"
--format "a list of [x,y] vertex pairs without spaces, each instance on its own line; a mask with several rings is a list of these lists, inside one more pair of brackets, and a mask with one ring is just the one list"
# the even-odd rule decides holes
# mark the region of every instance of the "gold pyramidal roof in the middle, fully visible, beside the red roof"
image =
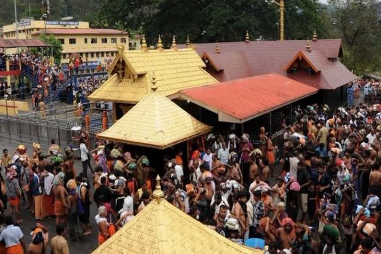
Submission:
[[97,137],[165,149],[210,131],[212,127],[194,119],[170,99],[159,94],[159,90],[143,98],[118,122]]

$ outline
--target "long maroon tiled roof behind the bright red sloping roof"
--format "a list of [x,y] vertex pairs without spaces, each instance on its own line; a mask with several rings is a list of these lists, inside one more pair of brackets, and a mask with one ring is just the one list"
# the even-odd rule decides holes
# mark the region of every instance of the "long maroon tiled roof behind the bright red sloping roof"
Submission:
[[[186,46],[179,45],[179,47]],[[299,80],[301,78],[299,75],[305,76],[300,72],[290,75],[283,70],[298,52],[302,51],[307,54],[305,50],[306,41],[304,40],[251,41],[249,43],[245,43],[244,41],[221,42],[219,43],[219,48],[220,54],[218,54],[218,58],[225,58],[224,62],[227,63],[224,65],[223,72],[228,71],[230,73],[235,73],[247,68],[249,64],[250,75],[249,72],[247,72],[246,77],[267,73],[278,73]],[[212,54],[215,52],[215,43],[197,44],[196,51],[200,56],[205,52],[208,55]],[[229,64],[229,58],[232,52],[242,52],[245,55],[246,61],[243,61],[242,64]],[[328,60],[328,58],[336,59],[337,57],[342,56],[340,39],[312,41],[311,54],[309,55],[309,58],[314,65],[322,67],[321,75],[323,77],[319,77],[319,75],[310,76],[308,79],[303,77],[305,84],[318,87],[319,89],[335,89],[357,78],[339,61],[332,62]],[[211,56],[211,58],[213,59],[213,56]],[[217,61],[218,60],[216,60],[216,62]],[[221,73],[217,73],[215,77],[220,81],[231,80],[229,75],[223,76]],[[226,79],[223,79],[224,77],[226,77]],[[234,79],[234,77],[232,79]]]

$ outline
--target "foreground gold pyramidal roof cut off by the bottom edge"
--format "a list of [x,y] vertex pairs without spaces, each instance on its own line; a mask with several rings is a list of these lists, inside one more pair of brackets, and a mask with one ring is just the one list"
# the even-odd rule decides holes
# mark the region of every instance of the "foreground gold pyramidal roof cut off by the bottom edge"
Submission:
[[262,254],[233,243],[167,200],[152,200],[92,254]]

